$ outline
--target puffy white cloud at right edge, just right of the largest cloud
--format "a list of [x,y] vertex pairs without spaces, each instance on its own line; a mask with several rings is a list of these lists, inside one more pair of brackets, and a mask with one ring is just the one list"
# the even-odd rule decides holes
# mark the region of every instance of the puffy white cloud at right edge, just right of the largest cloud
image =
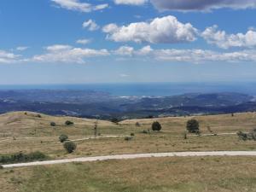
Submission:
[[211,26],[207,27],[201,36],[207,40],[207,43],[216,44],[223,49],[231,47],[253,48],[256,46],[256,32],[252,30],[248,30],[245,34],[227,34],[224,31],[218,31],[218,26]]

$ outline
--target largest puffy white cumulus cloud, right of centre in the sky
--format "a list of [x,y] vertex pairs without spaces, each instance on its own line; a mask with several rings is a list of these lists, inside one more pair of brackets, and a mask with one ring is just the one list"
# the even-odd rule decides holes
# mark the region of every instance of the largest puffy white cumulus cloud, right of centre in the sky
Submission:
[[175,44],[192,42],[196,39],[197,30],[190,23],[183,24],[176,17],[169,15],[155,18],[151,22],[136,22],[128,26],[108,24],[102,28],[108,33],[107,38],[115,42]]

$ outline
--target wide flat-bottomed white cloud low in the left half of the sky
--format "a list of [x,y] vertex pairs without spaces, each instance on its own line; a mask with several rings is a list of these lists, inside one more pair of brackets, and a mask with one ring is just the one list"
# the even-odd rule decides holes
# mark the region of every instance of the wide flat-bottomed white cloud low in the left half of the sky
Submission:
[[109,55],[107,49],[81,49],[69,45],[51,45],[43,55],[34,55],[30,61],[84,63],[86,58]]

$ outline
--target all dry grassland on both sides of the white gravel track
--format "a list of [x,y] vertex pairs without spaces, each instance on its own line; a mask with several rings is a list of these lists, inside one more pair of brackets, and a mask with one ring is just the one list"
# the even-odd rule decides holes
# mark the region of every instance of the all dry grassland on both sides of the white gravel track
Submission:
[[[138,154],[172,151],[256,150],[254,141],[241,141],[236,131],[251,131],[256,127],[256,113],[236,113],[195,117],[202,134],[217,136],[183,139],[188,119],[193,117],[131,119],[115,125],[98,121],[102,136],[77,141],[77,150],[67,154],[58,141],[65,133],[70,139],[93,137],[94,119],[52,117],[31,112],[0,115],[0,154],[41,151],[51,159],[74,158],[105,154]],[[65,125],[71,120],[74,125]],[[162,131],[142,133],[158,120]],[[50,126],[50,122],[56,126]],[[140,126],[137,127],[136,123]],[[0,191],[21,192],[256,192],[256,159],[254,157],[186,157],[148,158],[139,160],[108,160],[90,163],[70,163],[58,166],[35,166],[0,169]]]

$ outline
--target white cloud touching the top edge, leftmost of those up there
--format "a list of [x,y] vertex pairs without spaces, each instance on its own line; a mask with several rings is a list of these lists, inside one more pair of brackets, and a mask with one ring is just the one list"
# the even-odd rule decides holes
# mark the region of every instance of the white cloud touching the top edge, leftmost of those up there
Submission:
[[106,9],[108,8],[108,4],[99,4],[99,5],[92,5],[90,3],[81,3],[79,0],[51,0],[58,6],[63,9],[80,11],[84,13],[89,13],[94,10]]

